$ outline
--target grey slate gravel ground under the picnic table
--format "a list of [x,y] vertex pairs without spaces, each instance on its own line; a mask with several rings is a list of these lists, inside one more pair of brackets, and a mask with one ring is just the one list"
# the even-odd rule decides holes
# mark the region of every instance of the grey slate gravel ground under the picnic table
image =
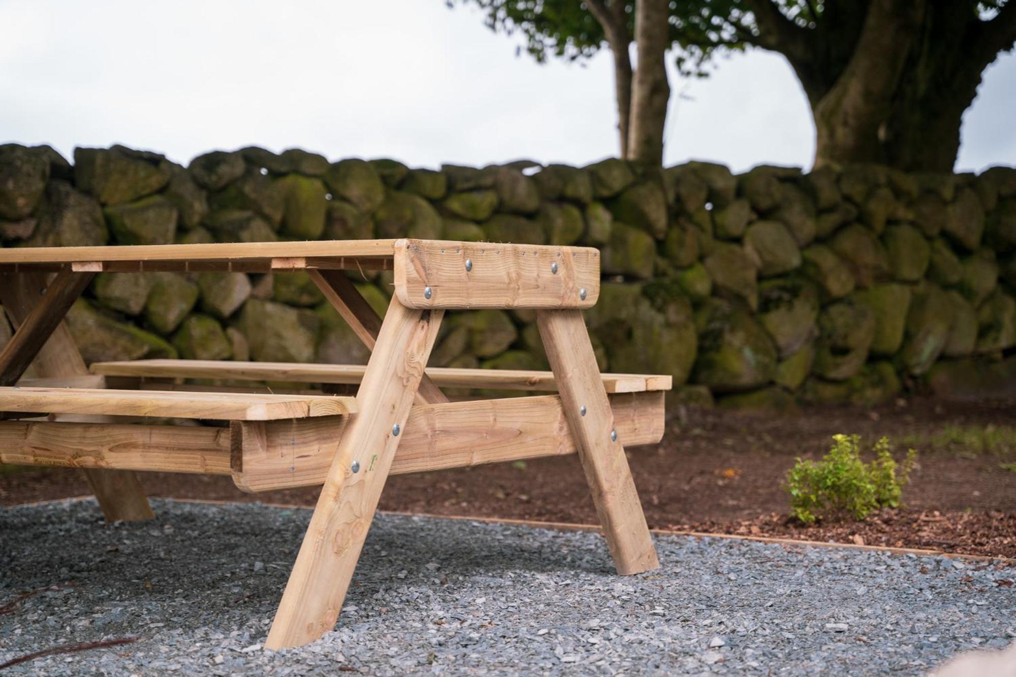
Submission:
[[619,577],[592,533],[380,515],[338,629],[276,654],[310,512],[153,502],[132,525],[90,500],[0,510],[0,664],[139,637],[9,674],[922,674],[1016,637],[1002,565],[657,537],[662,568]]

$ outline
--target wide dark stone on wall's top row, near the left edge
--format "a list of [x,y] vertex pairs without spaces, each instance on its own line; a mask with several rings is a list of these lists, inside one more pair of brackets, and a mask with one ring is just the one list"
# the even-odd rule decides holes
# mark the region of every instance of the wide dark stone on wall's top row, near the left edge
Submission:
[[114,145],[74,148],[74,183],[103,204],[130,202],[158,192],[170,181],[163,156]]

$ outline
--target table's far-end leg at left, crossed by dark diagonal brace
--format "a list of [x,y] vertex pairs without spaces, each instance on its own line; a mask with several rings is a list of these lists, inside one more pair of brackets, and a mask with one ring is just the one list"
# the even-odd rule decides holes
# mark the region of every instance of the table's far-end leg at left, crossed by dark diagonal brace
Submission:
[[[0,303],[15,327],[28,316],[42,298],[47,280],[43,273],[0,275]],[[87,375],[84,360],[65,322],[50,334],[35,361],[40,377],[75,377]],[[99,506],[109,521],[137,521],[155,516],[141,483],[134,473],[123,471],[84,471]]]

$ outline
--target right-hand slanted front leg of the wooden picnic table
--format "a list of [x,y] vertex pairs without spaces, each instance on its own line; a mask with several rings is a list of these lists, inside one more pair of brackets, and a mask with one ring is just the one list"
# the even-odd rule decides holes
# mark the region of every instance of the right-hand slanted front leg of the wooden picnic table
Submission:
[[659,566],[656,550],[625,457],[624,440],[614,432],[614,415],[582,314],[541,310],[536,323],[614,565],[622,574],[655,569]]

